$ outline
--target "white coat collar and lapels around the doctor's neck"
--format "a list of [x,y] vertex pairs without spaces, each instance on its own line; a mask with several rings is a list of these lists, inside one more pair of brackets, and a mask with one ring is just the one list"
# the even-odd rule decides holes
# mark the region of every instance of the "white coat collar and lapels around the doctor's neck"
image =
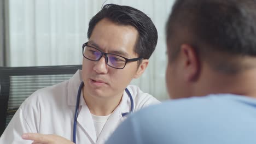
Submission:
[[[82,79],[82,70],[78,70],[68,81],[68,105],[75,106],[77,100],[77,93],[80,83],[83,81]],[[132,89],[128,88],[130,93],[133,96]],[[134,105],[135,106],[135,105]],[[83,131],[90,136],[90,139],[96,143],[103,143],[108,139],[110,134],[118,127],[119,123],[123,121],[122,113],[130,112],[131,110],[131,101],[128,94],[124,91],[123,97],[120,101],[120,104],[117,108],[112,112],[109,116],[106,124],[104,125],[101,134],[96,136],[96,131],[94,127],[94,122],[90,113],[88,106],[85,103],[83,93],[80,95],[80,103],[79,103],[79,113],[77,118],[77,129],[82,128]],[[80,125],[80,127],[79,127]],[[111,133],[110,133],[111,132]],[[79,134],[78,134],[79,135]]]

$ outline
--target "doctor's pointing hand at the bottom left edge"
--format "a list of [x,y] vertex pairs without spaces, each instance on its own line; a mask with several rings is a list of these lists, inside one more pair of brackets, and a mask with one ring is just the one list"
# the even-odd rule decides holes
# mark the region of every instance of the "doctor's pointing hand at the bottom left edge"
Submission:
[[64,137],[58,135],[43,135],[37,133],[27,133],[22,135],[22,139],[24,140],[32,140],[34,141],[32,144],[74,144],[72,141],[65,139]]

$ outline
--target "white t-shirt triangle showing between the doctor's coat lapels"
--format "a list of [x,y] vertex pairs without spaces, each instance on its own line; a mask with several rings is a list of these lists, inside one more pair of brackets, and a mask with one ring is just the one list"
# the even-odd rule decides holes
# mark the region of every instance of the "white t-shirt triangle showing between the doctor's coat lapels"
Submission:
[[97,138],[98,138],[98,135],[101,134],[101,131],[102,131],[104,125],[106,124],[108,117],[110,115],[111,115],[111,113],[107,116],[96,116],[96,115],[91,114],[92,120],[94,121],[94,127],[95,127]]

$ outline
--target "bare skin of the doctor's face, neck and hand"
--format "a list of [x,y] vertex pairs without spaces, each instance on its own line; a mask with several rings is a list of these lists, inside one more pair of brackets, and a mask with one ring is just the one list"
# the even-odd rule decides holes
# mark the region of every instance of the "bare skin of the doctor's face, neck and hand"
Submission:
[[[114,53],[126,58],[137,58],[134,52],[138,31],[135,27],[118,25],[108,19],[97,23],[89,44],[102,52]],[[89,110],[97,116],[106,116],[119,105],[125,88],[132,79],[137,79],[147,68],[148,59],[141,64],[129,62],[124,69],[109,67],[104,59],[94,62],[83,58],[82,76],[84,81],[83,97]],[[27,133],[22,135],[24,140],[32,140],[37,144],[73,143],[61,136]]]

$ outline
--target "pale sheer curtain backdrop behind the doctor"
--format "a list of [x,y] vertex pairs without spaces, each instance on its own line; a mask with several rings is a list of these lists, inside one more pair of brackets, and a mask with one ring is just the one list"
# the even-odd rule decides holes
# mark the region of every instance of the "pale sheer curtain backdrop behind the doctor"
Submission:
[[129,5],[146,13],[158,29],[158,45],[145,73],[131,82],[159,100],[168,98],[165,23],[174,0],[2,0],[0,66],[82,64],[88,23],[103,4]]

